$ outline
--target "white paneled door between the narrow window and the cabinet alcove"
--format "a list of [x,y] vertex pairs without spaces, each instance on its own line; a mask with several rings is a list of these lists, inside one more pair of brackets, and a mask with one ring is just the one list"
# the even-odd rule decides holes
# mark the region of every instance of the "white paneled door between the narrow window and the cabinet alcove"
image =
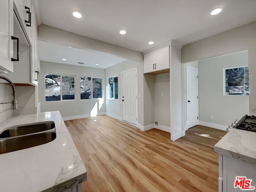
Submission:
[[137,69],[122,72],[123,120],[137,125]]

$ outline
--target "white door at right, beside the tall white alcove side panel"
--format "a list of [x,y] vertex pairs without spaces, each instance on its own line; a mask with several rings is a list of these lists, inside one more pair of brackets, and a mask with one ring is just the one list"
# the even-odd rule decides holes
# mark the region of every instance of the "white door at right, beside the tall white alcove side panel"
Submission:
[[187,127],[199,124],[198,120],[198,69],[187,66]]

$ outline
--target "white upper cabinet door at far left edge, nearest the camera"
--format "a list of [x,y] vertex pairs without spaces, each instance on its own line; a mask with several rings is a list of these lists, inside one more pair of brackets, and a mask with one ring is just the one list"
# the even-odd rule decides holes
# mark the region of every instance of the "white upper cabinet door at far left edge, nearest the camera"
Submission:
[[0,72],[13,72],[13,0],[0,1]]

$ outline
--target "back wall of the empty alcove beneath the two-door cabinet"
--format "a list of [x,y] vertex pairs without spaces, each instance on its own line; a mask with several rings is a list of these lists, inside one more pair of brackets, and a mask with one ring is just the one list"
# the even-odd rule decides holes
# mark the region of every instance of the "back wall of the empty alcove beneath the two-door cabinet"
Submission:
[[[155,128],[170,132],[170,73],[154,75]],[[164,127],[163,127],[164,126]]]

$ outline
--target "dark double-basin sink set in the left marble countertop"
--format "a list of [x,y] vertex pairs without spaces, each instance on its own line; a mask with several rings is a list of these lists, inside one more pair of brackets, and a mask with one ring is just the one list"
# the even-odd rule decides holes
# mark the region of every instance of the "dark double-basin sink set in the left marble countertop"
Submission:
[[54,121],[9,127],[0,134],[0,154],[49,143],[54,139]]

